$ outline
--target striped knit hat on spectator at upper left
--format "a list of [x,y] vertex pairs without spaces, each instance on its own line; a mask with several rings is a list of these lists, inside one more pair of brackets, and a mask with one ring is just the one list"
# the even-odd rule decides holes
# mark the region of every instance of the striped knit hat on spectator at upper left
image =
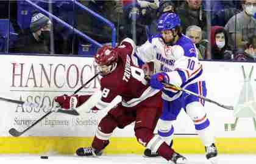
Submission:
[[30,30],[36,32],[48,24],[49,18],[42,13],[35,13],[30,22]]

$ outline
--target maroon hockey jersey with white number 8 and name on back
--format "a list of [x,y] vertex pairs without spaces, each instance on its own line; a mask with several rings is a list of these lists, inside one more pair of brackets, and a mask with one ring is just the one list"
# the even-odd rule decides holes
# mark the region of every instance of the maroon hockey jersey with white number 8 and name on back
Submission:
[[102,97],[96,104],[96,108],[106,108],[118,95],[122,97],[122,106],[127,108],[141,103],[151,106],[154,106],[154,103],[159,103],[160,101],[145,101],[160,91],[150,87],[144,78],[143,70],[133,64],[132,54],[135,52],[135,44],[132,39],[124,39],[115,49],[118,52],[118,64],[112,73],[101,78]]

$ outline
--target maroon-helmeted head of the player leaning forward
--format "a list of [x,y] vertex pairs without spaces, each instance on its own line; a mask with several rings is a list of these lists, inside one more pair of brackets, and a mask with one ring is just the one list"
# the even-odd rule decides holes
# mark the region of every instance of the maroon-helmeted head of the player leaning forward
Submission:
[[110,46],[101,47],[96,55],[94,61],[98,64],[99,73],[107,75],[116,68],[118,60],[118,53]]

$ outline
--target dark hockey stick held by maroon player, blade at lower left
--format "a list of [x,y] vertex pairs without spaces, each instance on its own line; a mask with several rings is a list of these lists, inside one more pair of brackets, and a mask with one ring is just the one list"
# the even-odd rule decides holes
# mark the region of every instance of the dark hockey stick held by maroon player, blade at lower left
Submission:
[[[96,73],[90,80],[88,80],[85,84],[83,84],[82,86],[79,87],[79,89],[77,89],[76,91],[74,91],[74,94],[77,94],[77,92],[79,92],[83,87],[85,87],[88,83],[91,82],[91,80],[93,80],[94,78],[96,78],[99,75],[99,73]],[[74,95],[73,94],[73,95]],[[64,111],[64,110],[63,110]],[[62,112],[63,112],[62,111]],[[76,112],[76,110],[71,110]],[[24,132],[28,131],[30,128],[32,128],[33,126],[37,125],[38,122],[40,122],[41,120],[43,120],[43,118],[47,117],[49,114],[51,114],[53,111],[49,111],[47,114],[43,115],[41,118],[39,118],[37,121],[35,121],[32,125],[30,125],[29,127],[27,127],[24,131],[17,131],[15,128],[11,128],[9,130],[10,135],[12,135],[13,137],[19,137],[20,135],[24,134]],[[58,110],[57,112],[60,112],[60,110]],[[69,114],[68,112],[63,112],[65,114]],[[76,112],[77,113],[77,112]],[[78,114],[78,113],[77,113]],[[79,114],[78,114],[79,115]]]

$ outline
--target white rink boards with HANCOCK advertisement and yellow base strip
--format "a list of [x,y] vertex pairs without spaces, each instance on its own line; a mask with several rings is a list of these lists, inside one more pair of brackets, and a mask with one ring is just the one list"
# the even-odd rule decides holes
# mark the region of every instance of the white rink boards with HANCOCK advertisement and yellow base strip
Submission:
[[[78,117],[52,113],[22,137],[11,137],[10,128],[23,131],[52,108],[57,95],[71,95],[93,77],[96,67],[92,58],[71,56],[1,56],[1,95],[16,100],[43,102],[47,108],[23,108],[0,101],[0,153],[56,152],[73,154],[77,147],[90,145],[95,129],[107,111],[82,109]],[[205,109],[215,131],[220,153],[256,153],[255,72],[254,63],[202,61],[207,84],[207,98],[235,106],[228,111],[206,103]],[[243,66],[243,68],[242,68]],[[244,70],[244,71],[243,71]],[[99,90],[95,78],[79,94]],[[182,111],[175,123],[174,148],[185,153],[204,153],[194,125]],[[187,134],[187,135],[179,135]],[[75,137],[74,137],[75,136]],[[133,126],[116,129],[107,154],[141,154],[143,146],[134,137]]]

